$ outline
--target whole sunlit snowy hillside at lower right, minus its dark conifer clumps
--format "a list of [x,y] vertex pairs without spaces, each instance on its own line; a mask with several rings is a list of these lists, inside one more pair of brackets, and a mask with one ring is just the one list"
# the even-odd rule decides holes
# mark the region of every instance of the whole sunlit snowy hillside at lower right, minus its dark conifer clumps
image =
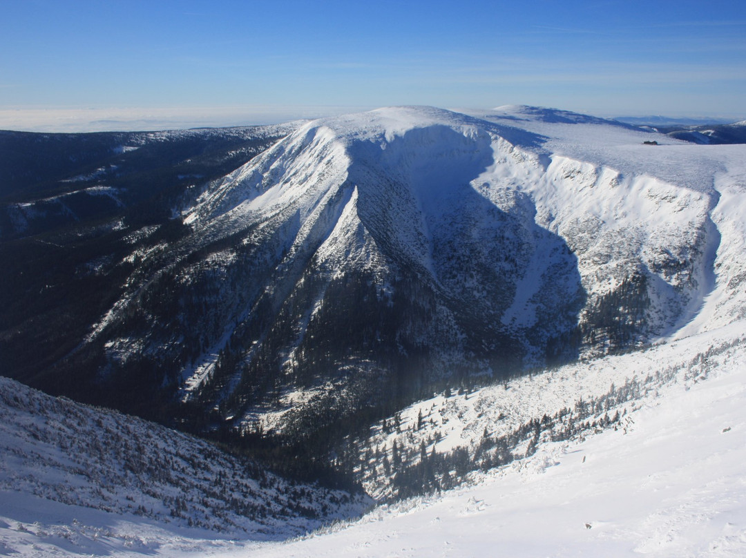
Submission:
[[[553,441],[562,429],[555,422],[539,429],[530,457],[518,455],[508,465],[466,475],[457,488],[377,507],[354,523],[245,555],[743,556],[744,324],[610,361],[516,380],[504,394],[495,388],[468,400],[454,396],[452,404],[435,401],[449,423],[456,422],[443,443],[461,444],[470,456],[470,439],[479,437],[469,433],[471,418],[501,429],[501,421],[477,418],[489,397],[513,426],[530,416],[541,421],[543,413],[581,398],[602,401],[582,421],[595,424],[568,439]],[[588,385],[574,383],[580,377]],[[599,398],[612,382],[619,398]],[[627,389],[633,398],[624,401]],[[424,405],[403,416],[414,416],[418,407]],[[617,411],[619,420],[606,425],[606,413]]]

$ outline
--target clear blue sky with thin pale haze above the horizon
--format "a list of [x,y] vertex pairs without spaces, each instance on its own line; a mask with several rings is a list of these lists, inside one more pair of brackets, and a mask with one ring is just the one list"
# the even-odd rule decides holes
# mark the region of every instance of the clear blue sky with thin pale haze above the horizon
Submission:
[[102,127],[245,124],[392,104],[746,118],[743,0],[0,7],[0,128],[66,114]]

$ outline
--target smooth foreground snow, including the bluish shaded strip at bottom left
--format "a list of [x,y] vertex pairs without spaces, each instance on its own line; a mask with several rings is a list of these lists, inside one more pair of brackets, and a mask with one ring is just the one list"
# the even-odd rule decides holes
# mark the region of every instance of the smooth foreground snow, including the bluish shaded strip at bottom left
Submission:
[[[221,540],[7,492],[0,555],[746,556],[744,330],[734,324],[663,348],[662,359],[680,359],[730,343],[706,378],[680,374],[615,430],[543,444],[532,457],[474,474],[469,486],[380,506],[301,539]],[[624,358],[630,377],[637,358]]]

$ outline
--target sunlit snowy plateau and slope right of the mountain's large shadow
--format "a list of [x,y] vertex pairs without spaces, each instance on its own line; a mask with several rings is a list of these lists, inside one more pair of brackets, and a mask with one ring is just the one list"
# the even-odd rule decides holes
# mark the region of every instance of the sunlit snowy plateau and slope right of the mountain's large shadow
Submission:
[[[742,146],[687,145],[581,115],[560,118],[558,112],[565,114],[510,106],[481,116],[545,137],[548,180],[528,187],[538,202],[537,220],[568,239],[577,254],[586,289],[604,290],[604,280],[618,275],[617,266],[644,265],[657,277],[649,294],[667,301],[653,316],[653,331],[662,335],[665,322],[674,333],[715,290],[727,289],[728,304],[742,307],[742,289],[730,280],[740,273],[733,267],[741,269],[741,258],[732,256],[744,241],[742,219],[736,217],[744,203]],[[660,145],[643,144],[651,139]],[[670,303],[678,316],[666,314]],[[698,327],[739,315],[723,304],[720,310],[717,316],[712,306],[700,313]],[[689,327],[683,334],[693,331]]]

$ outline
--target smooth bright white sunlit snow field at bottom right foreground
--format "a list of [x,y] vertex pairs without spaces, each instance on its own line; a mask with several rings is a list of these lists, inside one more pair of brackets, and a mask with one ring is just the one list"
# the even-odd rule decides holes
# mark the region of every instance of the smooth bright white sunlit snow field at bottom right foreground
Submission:
[[[684,352],[708,347],[688,341]],[[635,354],[626,358],[635,365]],[[744,556],[743,342],[709,374],[649,394],[625,429],[542,445],[468,488],[379,507],[350,527],[249,555]]]

